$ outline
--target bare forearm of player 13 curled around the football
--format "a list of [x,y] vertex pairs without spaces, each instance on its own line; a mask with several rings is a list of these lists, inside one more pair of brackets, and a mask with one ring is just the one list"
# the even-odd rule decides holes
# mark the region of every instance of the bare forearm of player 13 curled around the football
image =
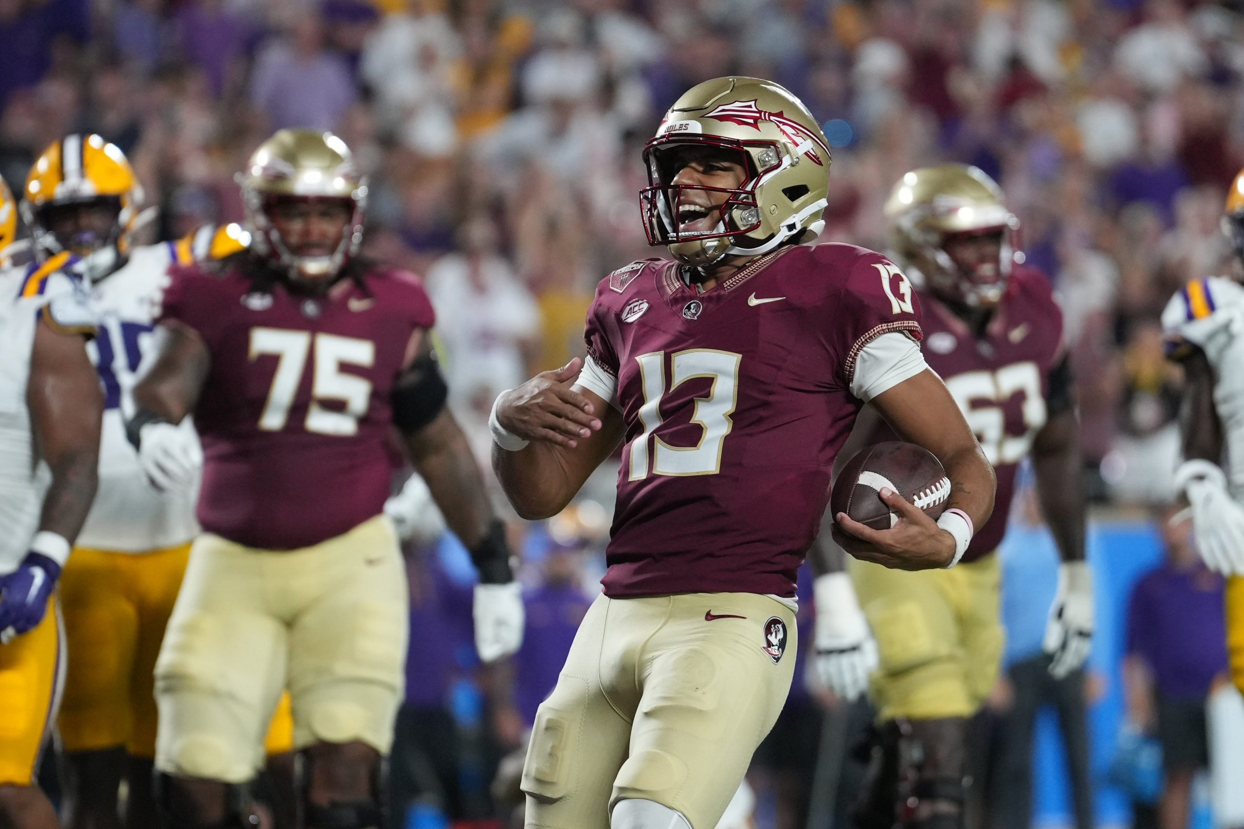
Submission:
[[963,510],[979,529],[994,511],[998,482],[977,436],[932,370],[877,395],[872,405],[903,440],[933,452],[950,479],[947,508]]

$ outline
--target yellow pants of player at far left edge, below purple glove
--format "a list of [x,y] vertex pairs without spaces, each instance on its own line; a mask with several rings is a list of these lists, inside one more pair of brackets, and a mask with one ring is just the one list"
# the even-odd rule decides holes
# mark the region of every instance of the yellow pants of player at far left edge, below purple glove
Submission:
[[56,599],[34,630],[0,645],[0,785],[30,785],[63,676]]

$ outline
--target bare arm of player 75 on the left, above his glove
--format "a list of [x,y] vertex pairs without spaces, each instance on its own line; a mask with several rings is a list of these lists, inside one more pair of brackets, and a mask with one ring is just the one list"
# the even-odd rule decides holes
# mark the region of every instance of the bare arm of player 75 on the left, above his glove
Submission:
[[134,387],[134,405],[169,423],[194,410],[211,354],[194,328],[168,319],[156,327],[156,359]]

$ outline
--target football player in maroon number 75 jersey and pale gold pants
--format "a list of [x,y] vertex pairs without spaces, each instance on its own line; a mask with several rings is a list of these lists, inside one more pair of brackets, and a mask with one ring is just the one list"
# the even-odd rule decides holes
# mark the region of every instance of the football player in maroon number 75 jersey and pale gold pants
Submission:
[[522,605],[480,470],[444,408],[419,281],[356,257],[367,188],[336,135],[281,131],[240,176],[249,250],[170,271],[128,423],[148,474],[205,462],[185,580],[156,665],[169,827],[249,825],[282,689],[311,829],[378,827],[402,697],[407,587],[391,520],[396,428],[479,568],[476,645],[513,653]]

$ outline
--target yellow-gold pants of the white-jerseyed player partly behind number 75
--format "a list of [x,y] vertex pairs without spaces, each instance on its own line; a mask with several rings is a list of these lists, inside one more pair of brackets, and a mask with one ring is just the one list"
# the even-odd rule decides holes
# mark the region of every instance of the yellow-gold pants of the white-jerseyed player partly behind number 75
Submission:
[[[65,751],[124,746],[132,757],[156,757],[156,657],[189,554],[188,543],[148,553],[75,548],[61,574],[68,639],[58,721]],[[285,695],[266,747],[281,753],[292,744]]]

